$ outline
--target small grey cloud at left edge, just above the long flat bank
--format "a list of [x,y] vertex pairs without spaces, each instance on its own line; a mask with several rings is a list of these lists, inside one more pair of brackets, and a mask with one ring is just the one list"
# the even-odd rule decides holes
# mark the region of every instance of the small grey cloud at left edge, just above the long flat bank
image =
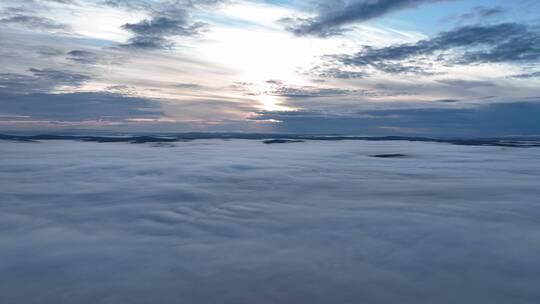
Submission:
[[28,71],[32,75],[1,73],[0,93],[18,95],[48,92],[61,86],[79,87],[90,80],[87,75],[71,71],[36,68]]

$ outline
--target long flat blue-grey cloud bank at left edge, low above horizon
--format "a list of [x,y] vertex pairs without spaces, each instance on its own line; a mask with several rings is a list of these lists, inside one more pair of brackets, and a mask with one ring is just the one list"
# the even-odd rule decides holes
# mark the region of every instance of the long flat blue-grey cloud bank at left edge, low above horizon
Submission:
[[26,95],[0,93],[0,105],[3,115],[52,121],[117,121],[163,115],[156,101],[105,92]]

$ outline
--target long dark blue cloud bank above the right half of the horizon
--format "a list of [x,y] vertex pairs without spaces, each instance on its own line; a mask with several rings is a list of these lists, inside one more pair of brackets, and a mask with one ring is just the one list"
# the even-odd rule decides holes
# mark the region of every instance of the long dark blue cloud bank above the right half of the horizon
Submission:
[[[438,100],[456,103],[459,100]],[[256,119],[281,121],[276,132],[482,137],[540,134],[540,102],[471,108],[366,110],[356,115],[317,112],[263,112]]]

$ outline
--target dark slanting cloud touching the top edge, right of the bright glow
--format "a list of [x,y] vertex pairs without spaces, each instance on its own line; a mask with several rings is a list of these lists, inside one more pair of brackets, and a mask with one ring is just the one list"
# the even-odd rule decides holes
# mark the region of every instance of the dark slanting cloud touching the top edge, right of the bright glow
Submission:
[[314,18],[289,18],[283,21],[289,24],[288,30],[295,35],[328,37],[340,34],[342,26],[353,22],[363,22],[397,10],[440,1],[445,0],[328,0],[319,3],[319,14]]

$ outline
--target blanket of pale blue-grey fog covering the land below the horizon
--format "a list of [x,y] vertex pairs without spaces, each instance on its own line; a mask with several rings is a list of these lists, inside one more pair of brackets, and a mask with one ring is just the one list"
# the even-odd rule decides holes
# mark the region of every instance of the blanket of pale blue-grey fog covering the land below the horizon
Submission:
[[[374,158],[400,153],[402,158]],[[538,303],[540,149],[0,142],[0,303]]]

